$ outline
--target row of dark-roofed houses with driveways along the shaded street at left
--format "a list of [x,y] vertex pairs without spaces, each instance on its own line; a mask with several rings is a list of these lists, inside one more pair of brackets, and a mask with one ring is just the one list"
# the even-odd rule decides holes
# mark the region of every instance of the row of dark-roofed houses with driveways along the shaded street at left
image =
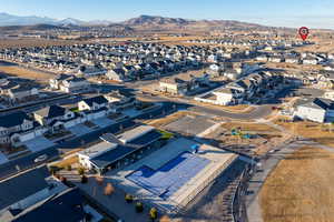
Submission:
[[108,117],[136,105],[134,95],[114,91],[78,102],[75,109],[57,104],[42,108],[32,114],[16,111],[0,117],[0,143],[20,145],[45,133],[57,133],[77,124]]

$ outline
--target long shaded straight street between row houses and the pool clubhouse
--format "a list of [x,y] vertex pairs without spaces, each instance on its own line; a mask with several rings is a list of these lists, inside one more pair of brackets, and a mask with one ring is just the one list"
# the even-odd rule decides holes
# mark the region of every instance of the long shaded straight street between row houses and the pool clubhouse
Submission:
[[19,167],[21,170],[24,170],[24,169],[29,169],[29,168],[42,164],[42,162],[38,163],[38,164],[33,162],[33,160],[41,154],[48,154],[49,159],[56,159],[59,157],[58,150],[69,150],[69,149],[78,148],[82,144],[95,141],[101,134],[104,134],[106,132],[117,133],[117,132],[121,131],[122,129],[134,127],[136,124],[136,122],[135,122],[136,119],[153,119],[153,118],[161,115],[163,113],[168,114],[174,111],[174,108],[177,108],[177,107],[174,107],[174,104],[170,102],[165,102],[165,103],[163,103],[161,107],[149,110],[149,111],[145,112],[144,114],[140,114],[136,118],[122,120],[122,121],[111,124],[107,128],[102,128],[97,131],[92,131],[82,137],[75,138],[72,140],[65,141],[62,143],[58,143],[57,145],[48,148],[40,152],[31,153],[31,154],[24,155],[22,158],[9,161],[8,163],[0,165],[0,179],[4,179],[11,174],[16,174],[18,172],[17,167]]

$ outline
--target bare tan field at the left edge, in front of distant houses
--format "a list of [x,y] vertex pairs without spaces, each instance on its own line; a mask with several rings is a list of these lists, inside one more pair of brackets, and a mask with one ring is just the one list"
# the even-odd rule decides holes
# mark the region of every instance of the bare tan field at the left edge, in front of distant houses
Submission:
[[0,65],[0,72],[4,72],[14,77],[20,77],[20,78],[26,78],[26,79],[32,79],[41,82],[46,82],[51,78],[55,78],[53,74],[42,72],[42,71],[35,71],[35,70],[29,70],[22,67],[18,65]]

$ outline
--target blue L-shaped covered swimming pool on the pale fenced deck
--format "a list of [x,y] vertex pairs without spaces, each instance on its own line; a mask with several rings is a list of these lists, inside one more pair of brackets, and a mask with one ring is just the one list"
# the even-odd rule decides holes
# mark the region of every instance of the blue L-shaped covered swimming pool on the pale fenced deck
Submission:
[[143,165],[127,175],[127,179],[166,200],[209,162],[210,160],[199,158],[196,154],[183,152],[156,171]]

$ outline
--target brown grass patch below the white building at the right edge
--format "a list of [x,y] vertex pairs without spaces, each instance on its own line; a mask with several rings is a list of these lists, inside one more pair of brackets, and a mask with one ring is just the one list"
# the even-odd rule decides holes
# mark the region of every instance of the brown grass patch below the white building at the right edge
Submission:
[[[278,118],[284,119],[284,118]],[[333,147],[334,148],[334,125],[321,124],[315,122],[279,122],[275,120],[276,124],[279,124],[287,130],[289,130],[293,134],[302,135],[304,138],[310,138],[321,144]]]

